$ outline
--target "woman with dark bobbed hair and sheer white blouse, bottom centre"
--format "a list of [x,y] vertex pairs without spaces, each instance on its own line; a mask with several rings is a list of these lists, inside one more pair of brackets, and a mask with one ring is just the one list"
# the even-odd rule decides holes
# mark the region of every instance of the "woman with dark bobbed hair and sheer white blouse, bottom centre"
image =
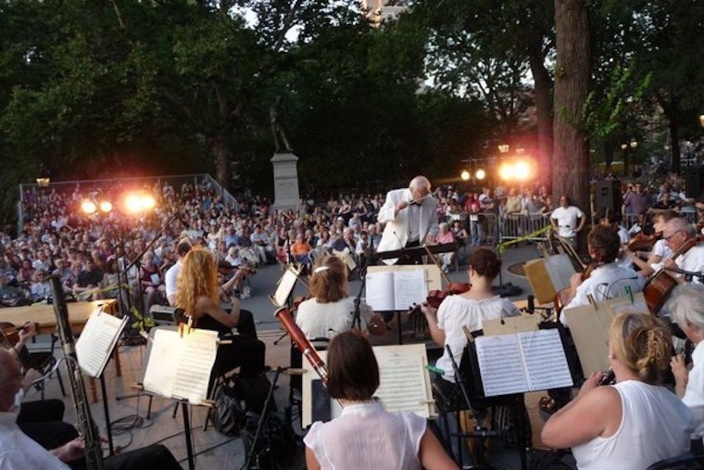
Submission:
[[332,421],[313,423],[303,439],[309,470],[457,468],[424,418],[386,412],[374,399],[379,365],[359,331],[335,336],[327,362],[327,390],[343,409]]

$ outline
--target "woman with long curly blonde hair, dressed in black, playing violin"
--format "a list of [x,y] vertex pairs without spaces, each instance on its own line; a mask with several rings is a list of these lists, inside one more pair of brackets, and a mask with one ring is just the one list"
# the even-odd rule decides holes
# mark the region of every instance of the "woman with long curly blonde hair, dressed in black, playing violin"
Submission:
[[213,253],[193,248],[185,256],[177,281],[176,305],[195,319],[197,328],[218,331],[220,338],[232,340],[218,346],[213,373],[241,367],[239,376],[247,379],[264,370],[265,345],[256,339],[256,333],[232,334],[232,328],[241,323],[239,300],[232,299],[231,312],[220,306],[218,268]]

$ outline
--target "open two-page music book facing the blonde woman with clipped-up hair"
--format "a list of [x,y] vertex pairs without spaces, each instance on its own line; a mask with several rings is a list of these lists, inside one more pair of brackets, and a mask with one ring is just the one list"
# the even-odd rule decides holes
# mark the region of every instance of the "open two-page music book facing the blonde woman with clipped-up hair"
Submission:
[[573,385],[557,329],[479,336],[475,342],[487,397]]

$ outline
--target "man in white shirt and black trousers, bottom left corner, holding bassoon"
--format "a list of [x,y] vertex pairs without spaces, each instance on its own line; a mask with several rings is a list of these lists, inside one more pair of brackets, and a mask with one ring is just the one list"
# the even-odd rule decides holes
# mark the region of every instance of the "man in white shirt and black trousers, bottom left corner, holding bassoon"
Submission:
[[[52,450],[34,442],[15,423],[15,395],[22,387],[25,376],[19,362],[0,348],[0,468],[23,469],[68,469],[86,468],[82,438],[73,438]],[[153,470],[180,470],[171,452],[163,445],[152,445],[143,449],[108,457],[103,461],[107,470],[149,468]]]

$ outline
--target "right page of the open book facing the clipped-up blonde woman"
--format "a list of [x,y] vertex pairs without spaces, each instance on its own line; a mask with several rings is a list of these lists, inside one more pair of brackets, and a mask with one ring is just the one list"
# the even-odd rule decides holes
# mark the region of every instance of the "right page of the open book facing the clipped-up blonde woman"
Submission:
[[530,391],[573,385],[557,329],[525,331],[517,336]]

